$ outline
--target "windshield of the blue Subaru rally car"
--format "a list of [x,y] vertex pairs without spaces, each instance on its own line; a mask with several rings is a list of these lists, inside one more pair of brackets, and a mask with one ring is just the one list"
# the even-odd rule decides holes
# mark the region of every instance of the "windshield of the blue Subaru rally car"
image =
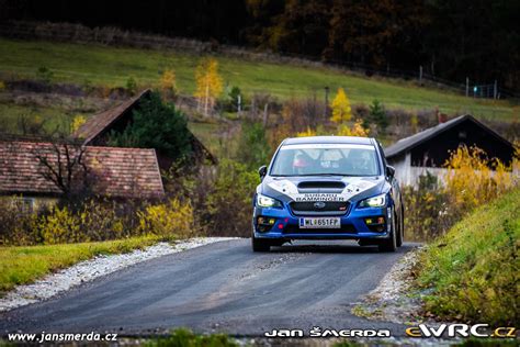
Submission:
[[271,176],[376,176],[375,147],[354,144],[302,144],[280,148]]

